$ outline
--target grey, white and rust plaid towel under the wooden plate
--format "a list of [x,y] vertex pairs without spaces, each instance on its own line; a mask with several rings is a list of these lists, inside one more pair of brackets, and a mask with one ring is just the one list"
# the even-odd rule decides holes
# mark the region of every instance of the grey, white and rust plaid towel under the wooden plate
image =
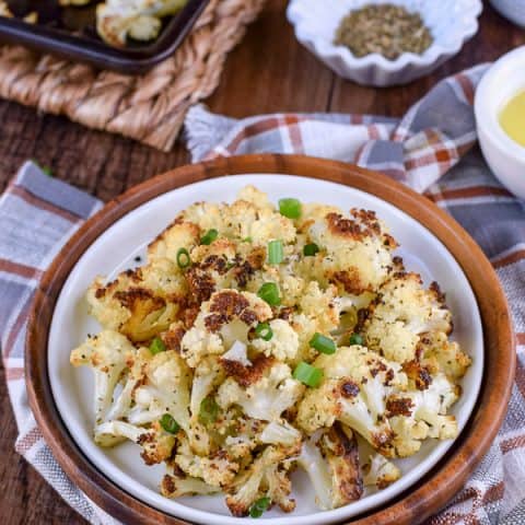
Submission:
[[[270,115],[241,121],[188,115],[194,160],[248,152],[304,153],[383,171],[448,211],[492,260],[512,305],[518,365],[509,415],[465,489],[432,525],[525,524],[525,209],[491,175],[475,145],[472,94],[485,67],[438,84],[400,120]],[[459,162],[460,161],[460,162]],[[0,199],[0,330],[19,425],[16,450],[90,523],[116,524],[63,475],[27,406],[23,347],[33,291],[52,257],[100,202],[27,163]],[[36,502],[35,502],[36,504]]]

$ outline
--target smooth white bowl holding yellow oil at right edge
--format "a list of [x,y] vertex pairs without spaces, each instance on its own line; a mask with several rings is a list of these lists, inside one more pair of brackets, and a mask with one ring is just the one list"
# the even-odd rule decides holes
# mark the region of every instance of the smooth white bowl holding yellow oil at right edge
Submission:
[[525,46],[504,55],[489,69],[476,90],[474,105],[487,163],[504,186],[525,199],[525,148],[512,140],[499,122],[500,112],[521,90],[525,90]]

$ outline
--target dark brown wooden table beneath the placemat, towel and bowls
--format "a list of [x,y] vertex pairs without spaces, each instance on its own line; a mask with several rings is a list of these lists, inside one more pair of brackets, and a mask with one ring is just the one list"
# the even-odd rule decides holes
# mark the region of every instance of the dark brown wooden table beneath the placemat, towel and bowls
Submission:
[[[525,44],[525,31],[486,3],[478,34],[433,74],[400,88],[363,88],[336,77],[296,43],[285,21],[285,3],[268,0],[230,55],[221,84],[207,101],[212,110],[234,117],[287,110],[400,116],[440,79]],[[182,143],[171,153],[161,153],[14,103],[0,102],[0,191],[26,159],[50,166],[55,176],[103,200],[189,160]],[[0,404],[1,522],[85,523],[15,454],[16,428],[1,363]]]

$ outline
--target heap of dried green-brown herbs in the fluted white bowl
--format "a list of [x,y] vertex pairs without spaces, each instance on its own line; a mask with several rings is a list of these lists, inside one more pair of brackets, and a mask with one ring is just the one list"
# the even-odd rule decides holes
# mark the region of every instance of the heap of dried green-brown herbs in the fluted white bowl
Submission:
[[378,52],[395,60],[404,52],[422,55],[432,35],[419,13],[392,3],[370,4],[350,11],[341,20],[334,43],[355,57]]

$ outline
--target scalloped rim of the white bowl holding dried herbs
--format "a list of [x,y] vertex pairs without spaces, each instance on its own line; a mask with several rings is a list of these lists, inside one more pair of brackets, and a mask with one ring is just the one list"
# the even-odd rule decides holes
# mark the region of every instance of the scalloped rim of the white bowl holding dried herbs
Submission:
[[415,52],[404,52],[395,60],[388,60],[378,52],[371,52],[364,57],[355,57],[350,49],[345,46],[336,46],[331,42],[320,38],[318,35],[314,35],[303,28],[301,25],[302,14],[298,8],[302,0],[290,0],[287,9],[287,16],[290,23],[295,28],[295,36],[300,42],[308,43],[314,47],[315,52],[324,58],[340,58],[347,66],[352,69],[362,70],[370,68],[371,66],[380,66],[387,72],[396,72],[405,68],[408,65],[415,66],[430,66],[434,63],[440,57],[444,55],[455,55],[458,52],[465,42],[472,37],[478,32],[478,16],[483,10],[481,0],[472,0],[475,2],[476,10],[472,10],[471,21],[469,25],[465,26],[465,31],[460,37],[454,40],[451,46],[443,46],[433,42],[431,46],[422,54],[417,55]]

